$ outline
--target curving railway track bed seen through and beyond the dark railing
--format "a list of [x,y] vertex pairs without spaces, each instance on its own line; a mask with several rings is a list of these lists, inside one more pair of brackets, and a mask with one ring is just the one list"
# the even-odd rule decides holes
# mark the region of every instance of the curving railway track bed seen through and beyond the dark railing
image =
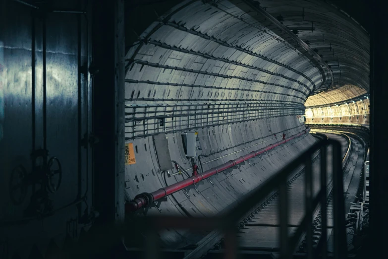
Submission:
[[[354,202],[354,195],[357,194],[358,184],[361,172],[361,165],[363,164],[363,143],[361,139],[357,139],[350,134],[344,134],[336,131],[325,131],[316,134],[317,138],[329,137],[335,140],[338,140],[342,146],[342,166],[344,172],[344,190],[345,190],[345,211],[349,210],[351,202]],[[364,143],[365,144],[365,143]],[[328,149],[328,180],[332,179],[332,150]],[[313,155],[313,193],[317,194],[320,185],[320,157],[319,153]],[[297,171],[294,176],[288,181],[288,194],[290,199],[290,217],[289,217],[289,233],[292,234],[300,224],[300,221],[303,218],[304,213],[304,168],[300,168],[300,171]],[[333,225],[333,206],[332,206],[332,189],[333,183],[329,180],[327,184],[327,207],[328,207],[328,225]],[[279,250],[278,244],[278,213],[277,213],[277,193],[271,194],[260,206],[255,208],[251,214],[249,214],[245,219],[240,223],[238,242],[239,248],[242,254],[272,254]],[[312,228],[314,229],[314,239],[319,240],[321,236],[321,226],[320,226],[320,211],[319,208],[315,211],[313,216],[314,222]],[[348,241],[349,249],[351,249],[351,230],[348,231],[349,236]],[[212,234],[212,233],[211,233]],[[204,243],[212,243],[214,240],[219,239],[220,235],[209,234],[207,239],[204,239]],[[332,229],[328,230],[329,246],[328,251],[332,252]],[[317,242],[315,242],[317,243]],[[297,252],[304,253],[304,244],[305,240],[302,237],[299,245],[299,250]],[[209,246],[208,246],[209,247]],[[198,249],[201,249],[199,247]],[[196,249],[196,250],[198,250]],[[222,253],[222,242],[217,242],[216,246],[213,249],[210,249],[206,252],[202,251],[202,257],[204,258],[213,258],[214,253]],[[199,255],[199,253],[189,253],[186,256],[186,259],[194,258],[193,255]],[[205,256],[206,255],[206,256]]]

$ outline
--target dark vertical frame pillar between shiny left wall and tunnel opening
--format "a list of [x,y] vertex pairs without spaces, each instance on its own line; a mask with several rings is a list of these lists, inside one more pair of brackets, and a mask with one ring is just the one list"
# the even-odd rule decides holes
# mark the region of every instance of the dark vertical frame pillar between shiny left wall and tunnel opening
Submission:
[[[124,220],[124,1],[92,5],[93,206],[98,224]],[[101,17],[104,17],[102,19]],[[102,31],[104,33],[102,33]],[[109,173],[107,173],[109,172]]]

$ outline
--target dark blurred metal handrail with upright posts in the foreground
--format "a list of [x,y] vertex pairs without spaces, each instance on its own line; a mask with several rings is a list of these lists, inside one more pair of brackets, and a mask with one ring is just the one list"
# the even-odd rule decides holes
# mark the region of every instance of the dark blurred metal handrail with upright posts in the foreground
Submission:
[[[252,210],[268,194],[278,190],[279,194],[279,240],[280,240],[280,258],[289,259],[292,257],[296,246],[299,243],[303,233],[307,237],[307,258],[316,258],[321,253],[322,258],[327,257],[327,147],[333,146],[333,230],[334,230],[334,258],[343,259],[347,254],[346,229],[345,229],[345,209],[343,198],[343,179],[341,169],[341,148],[338,141],[324,139],[301,154],[294,161],[289,163],[278,173],[268,179],[262,186],[245,195],[241,203],[223,216],[210,218],[200,217],[145,217],[131,220],[131,225],[141,226],[146,234],[147,242],[153,248],[152,256],[150,249],[146,249],[146,258],[155,258],[156,248],[152,245],[158,230],[165,228],[190,229],[193,231],[215,230],[218,229],[225,233],[225,258],[232,259],[237,255],[237,229],[238,221]],[[312,192],[312,155],[321,151],[321,186],[318,194],[313,197]],[[291,237],[288,235],[288,200],[287,200],[287,179],[293,170],[301,164],[306,167],[305,170],[305,216],[297,231]],[[313,248],[312,221],[313,212],[321,204],[322,211],[322,236],[316,249]],[[132,229],[133,230],[133,229]],[[152,244],[151,244],[151,243]],[[319,248],[319,249],[318,249]],[[148,256],[147,256],[148,255]]]

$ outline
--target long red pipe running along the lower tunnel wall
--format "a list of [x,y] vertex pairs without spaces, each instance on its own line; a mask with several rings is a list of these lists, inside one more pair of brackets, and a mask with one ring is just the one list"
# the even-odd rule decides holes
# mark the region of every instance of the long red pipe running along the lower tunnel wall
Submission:
[[260,155],[264,152],[267,152],[271,149],[274,149],[275,147],[277,147],[281,144],[284,144],[285,142],[288,142],[288,141],[294,139],[295,137],[299,137],[302,134],[305,134],[309,131],[310,131],[310,128],[307,128],[305,130],[302,130],[301,132],[299,132],[296,135],[291,135],[289,138],[282,139],[280,141],[277,141],[276,143],[269,144],[265,148],[260,148],[259,150],[253,151],[253,152],[248,153],[246,155],[240,156],[236,159],[230,160],[226,163],[223,163],[222,165],[219,165],[217,167],[209,169],[209,170],[203,172],[202,174],[197,173],[197,175],[193,175],[192,177],[189,177],[183,181],[180,181],[180,182],[177,182],[177,183],[172,184],[170,186],[167,186],[165,188],[159,189],[158,191],[155,191],[151,194],[147,194],[147,193],[139,194],[133,200],[125,203],[125,211],[132,212],[132,211],[138,210],[141,207],[146,207],[148,204],[150,204],[151,202],[153,202],[155,200],[158,200],[158,199],[165,197],[169,194],[173,194],[175,192],[178,192],[178,191],[180,191],[180,190],[182,190],[190,185],[196,184],[196,183],[198,183],[206,178],[209,178],[215,174],[218,174],[218,173],[220,173],[228,168],[231,168],[235,165],[238,165],[238,164],[240,164],[240,163],[242,163],[250,158],[258,156],[258,155]]

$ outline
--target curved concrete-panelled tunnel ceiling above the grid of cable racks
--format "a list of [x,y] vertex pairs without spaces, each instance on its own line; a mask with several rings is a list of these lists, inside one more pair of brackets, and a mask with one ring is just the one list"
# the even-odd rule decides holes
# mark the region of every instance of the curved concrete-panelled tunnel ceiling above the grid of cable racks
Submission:
[[[322,64],[252,2],[186,0],[160,17],[126,55],[127,102],[297,105],[328,88],[332,78]],[[334,88],[369,91],[369,36],[351,18],[317,0],[260,6],[330,65]]]

